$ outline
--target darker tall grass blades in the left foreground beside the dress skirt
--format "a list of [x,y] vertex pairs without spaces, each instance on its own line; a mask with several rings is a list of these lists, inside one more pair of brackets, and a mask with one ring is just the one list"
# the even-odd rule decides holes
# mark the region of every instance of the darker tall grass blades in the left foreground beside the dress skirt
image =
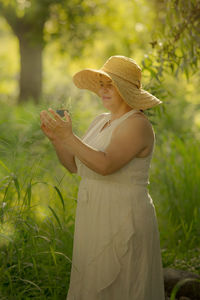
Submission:
[[[44,193],[42,183],[23,188],[14,175],[5,179],[0,209],[1,299],[64,299],[73,245],[75,199],[65,206],[58,186]],[[39,194],[39,195],[38,195]],[[51,204],[41,209],[43,197]],[[53,200],[53,201],[52,201]],[[44,205],[44,204],[43,204]]]

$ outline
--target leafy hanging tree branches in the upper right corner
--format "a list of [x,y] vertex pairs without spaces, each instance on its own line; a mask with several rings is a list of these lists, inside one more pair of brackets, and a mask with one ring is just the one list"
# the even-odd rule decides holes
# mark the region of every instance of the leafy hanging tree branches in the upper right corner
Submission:
[[164,72],[187,79],[197,72],[200,60],[200,0],[154,0],[157,10],[152,51],[143,67],[159,80]]

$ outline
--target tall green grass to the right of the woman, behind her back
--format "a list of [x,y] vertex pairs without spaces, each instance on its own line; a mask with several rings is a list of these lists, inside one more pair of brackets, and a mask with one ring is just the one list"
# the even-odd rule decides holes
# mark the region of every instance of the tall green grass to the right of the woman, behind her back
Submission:
[[200,141],[189,134],[163,135],[153,159],[150,192],[159,215],[166,264],[200,273],[199,149]]

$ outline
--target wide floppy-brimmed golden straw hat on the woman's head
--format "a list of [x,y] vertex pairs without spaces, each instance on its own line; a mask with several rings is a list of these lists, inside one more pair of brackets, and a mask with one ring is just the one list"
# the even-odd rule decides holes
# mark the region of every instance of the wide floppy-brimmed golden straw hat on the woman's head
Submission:
[[80,89],[87,89],[99,96],[100,78],[112,80],[123,100],[134,109],[148,109],[161,104],[158,98],[142,89],[141,68],[125,56],[111,56],[99,70],[84,69],[73,76],[74,84]]

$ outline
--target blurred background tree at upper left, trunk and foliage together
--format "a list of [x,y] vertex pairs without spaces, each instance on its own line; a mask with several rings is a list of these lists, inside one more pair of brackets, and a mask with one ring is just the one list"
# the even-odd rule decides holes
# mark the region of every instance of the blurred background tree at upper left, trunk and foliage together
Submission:
[[[19,41],[19,102],[29,98],[38,103],[42,93],[42,52],[49,37],[65,35],[65,45],[74,45],[73,56],[80,53],[83,40],[89,40],[95,25],[86,20],[96,6],[87,0],[0,0],[0,13]],[[48,24],[54,27],[48,31]],[[67,43],[68,42],[68,43]],[[68,47],[69,49],[69,47]],[[71,48],[72,49],[72,48]]]

